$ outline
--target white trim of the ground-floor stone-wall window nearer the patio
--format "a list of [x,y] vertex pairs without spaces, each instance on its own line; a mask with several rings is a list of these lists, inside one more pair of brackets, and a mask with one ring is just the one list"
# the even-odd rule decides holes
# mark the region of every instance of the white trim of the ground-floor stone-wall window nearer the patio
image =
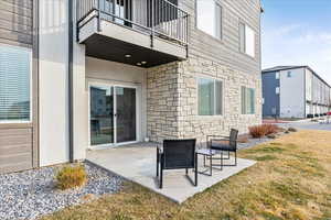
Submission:
[[[222,114],[211,114],[211,116],[201,116],[199,114],[199,79],[211,79],[211,80],[214,80],[214,101],[216,100],[216,87],[215,87],[215,84],[216,84],[216,80],[217,81],[221,81],[222,82]],[[225,84],[224,84],[224,80],[223,79],[220,79],[220,78],[215,78],[215,77],[205,77],[203,75],[200,75],[200,76],[196,76],[195,77],[195,80],[196,80],[196,116],[197,117],[203,117],[203,118],[210,118],[212,117],[213,119],[214,118],[223,118],[224,114],[225,114],[225,96],[224,96],[224,91],[225,91]],[[214,105],[214,113],[216,112],[216,105]]]

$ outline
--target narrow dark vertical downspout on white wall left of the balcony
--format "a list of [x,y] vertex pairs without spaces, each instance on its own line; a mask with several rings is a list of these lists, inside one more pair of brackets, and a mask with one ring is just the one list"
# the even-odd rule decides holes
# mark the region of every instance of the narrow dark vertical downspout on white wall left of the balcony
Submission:
[[73,80],[73,0],[68,1],[68,147],[70,147],[70,162],[74,162],[74,80]]

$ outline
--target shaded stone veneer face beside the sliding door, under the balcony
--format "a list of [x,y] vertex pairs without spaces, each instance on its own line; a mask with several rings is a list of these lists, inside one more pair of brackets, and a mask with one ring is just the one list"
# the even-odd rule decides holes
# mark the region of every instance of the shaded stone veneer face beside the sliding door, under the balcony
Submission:
[[147,136],[150,141],[179,138],[179,63],[148,69]]

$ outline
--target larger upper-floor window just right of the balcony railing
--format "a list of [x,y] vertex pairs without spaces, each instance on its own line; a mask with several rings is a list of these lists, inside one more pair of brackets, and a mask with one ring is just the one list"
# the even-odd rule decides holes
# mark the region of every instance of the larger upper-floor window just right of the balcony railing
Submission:
[[196,0],[196,26],[201,31],[222,38],[223,9],[215,0]]

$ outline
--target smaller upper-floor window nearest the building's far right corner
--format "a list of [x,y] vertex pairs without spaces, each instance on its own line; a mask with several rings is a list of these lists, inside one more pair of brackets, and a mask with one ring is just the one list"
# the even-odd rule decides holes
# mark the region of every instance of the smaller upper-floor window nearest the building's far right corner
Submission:
[[255,56],[255,32],[242,22],[239,23],[239,52]]

